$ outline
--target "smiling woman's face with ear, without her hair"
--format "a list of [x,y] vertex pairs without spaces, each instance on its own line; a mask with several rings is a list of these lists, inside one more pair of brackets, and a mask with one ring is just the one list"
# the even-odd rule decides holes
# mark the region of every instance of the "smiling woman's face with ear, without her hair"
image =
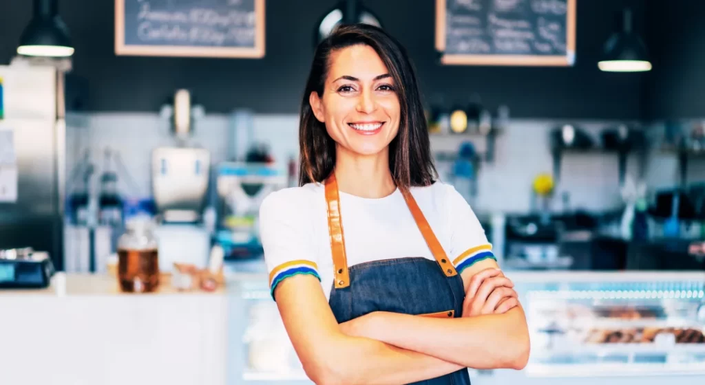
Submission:
[[331,54],[323,96],[309,96],[314,115],[345,151],[386,153],[399,130],[396,85],[370,46],[355,45]]

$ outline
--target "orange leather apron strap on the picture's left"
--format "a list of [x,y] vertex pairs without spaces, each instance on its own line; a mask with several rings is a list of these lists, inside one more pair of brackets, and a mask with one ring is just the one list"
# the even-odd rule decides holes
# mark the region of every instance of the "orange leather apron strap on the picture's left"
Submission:
[[331,237],[333,252],[333,277],[336,289],[350,286],[348,275],[348,257],[345,256],[345,236],[343,236],[343,221],[341,220],[341,199],[338,196],[338,181],[335,172],[326,179],[326,210],[328,210],[328,234]]

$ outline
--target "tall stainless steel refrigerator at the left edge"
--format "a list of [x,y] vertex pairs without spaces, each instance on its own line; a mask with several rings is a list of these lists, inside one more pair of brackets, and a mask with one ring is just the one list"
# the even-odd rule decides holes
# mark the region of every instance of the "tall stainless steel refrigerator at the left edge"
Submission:
[[0,65],[0,77],[4,105],[0,136],[5,143],[0,147],[4,153],[0,156],[4,158],[2,183],[6,191],[8,185],[16,188],[16,197],[0,198],[0,249],[28,246],[48,251],[56,269],[62,270],[63,72],[54,65],[13,62]]

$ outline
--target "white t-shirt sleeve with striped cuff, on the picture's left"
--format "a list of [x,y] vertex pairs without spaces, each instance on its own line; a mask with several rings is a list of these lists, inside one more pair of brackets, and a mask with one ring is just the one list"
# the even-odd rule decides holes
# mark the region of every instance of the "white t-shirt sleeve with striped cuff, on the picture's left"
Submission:
[[259,236],[272,298],[276,286],[294,275],[309,274],[321,280],[312,229],[306,220],[310,210],[294,192],[299,191],[276,191],[259,206]]

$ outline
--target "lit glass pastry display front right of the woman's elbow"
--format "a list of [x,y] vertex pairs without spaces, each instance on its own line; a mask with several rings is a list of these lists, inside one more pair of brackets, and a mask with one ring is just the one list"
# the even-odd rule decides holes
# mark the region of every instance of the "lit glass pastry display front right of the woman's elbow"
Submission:
[[705,274],[513,274],[527,374],[705,374]]

